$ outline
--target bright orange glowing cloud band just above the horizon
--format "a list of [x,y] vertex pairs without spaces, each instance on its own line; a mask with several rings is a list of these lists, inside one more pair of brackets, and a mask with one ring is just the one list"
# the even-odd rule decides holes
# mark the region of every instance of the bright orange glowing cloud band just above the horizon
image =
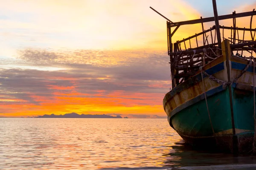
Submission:
[[[121,92],[122,94],[122,92]],[[76,97],[76,96],[56,96],[53,100],[47,100],[33,96],[38,99],[41,105],[1,105],[1,109],[6,110],[6,113],[0,113],[0,116],[36,116],[44,114],[64,114],[64,113],[84,113],[84,114],[110,114],[120,113],[122,115],[128,114],[147,114],[147,115],[162,115],[162,105],[155,105],[160,103],[155,101],[156,94],[145,95],[139,99],[133,99],[131,97],[144,94],[128,94],[128,96],[119,96],[117,92],[109,94],[103,98],[97,97]],[[126,99],[127,97],[127,99]],[[148,97],[153,97],[150,99]],[[140,103],[140,105],[138,105]],[[9,109],[11,108],[11,109]]]

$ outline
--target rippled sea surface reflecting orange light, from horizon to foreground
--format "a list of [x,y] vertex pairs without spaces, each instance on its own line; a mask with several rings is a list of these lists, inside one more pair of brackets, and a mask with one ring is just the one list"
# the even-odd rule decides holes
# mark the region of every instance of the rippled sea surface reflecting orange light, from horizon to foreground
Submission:
[[166,119],[0,118],[0,169],[256,169],[256,158],[192,150]]

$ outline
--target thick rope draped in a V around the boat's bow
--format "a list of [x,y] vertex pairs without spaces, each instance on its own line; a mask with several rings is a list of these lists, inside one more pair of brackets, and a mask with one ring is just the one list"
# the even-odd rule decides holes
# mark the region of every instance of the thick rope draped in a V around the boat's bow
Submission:
[[[227,88],[228,85],[232,84],[233,82],[236,82],[243,74],[244,72],[246,72],[248,70],[248,68],[252,65],[252,60],[250,59],[250,62],[248,65],[246,65],[246,67],[244,68],[244,70],[241,72],[241,74],[239,74],[238,77],[236,77],[235,79],[233,79],[233,81],[231,82],[226,82],[220,79],[217,79],[216,77],[213,77],[212,75],[209,75],[206,71],[203,70],[203,67],[200,67],[200,71],[203,72],[206,76],[209,77],[210,80],[217,82],[218,84],[221,84],[223,86],[224,89]],[[254,62],[253,62],[254,64]]]

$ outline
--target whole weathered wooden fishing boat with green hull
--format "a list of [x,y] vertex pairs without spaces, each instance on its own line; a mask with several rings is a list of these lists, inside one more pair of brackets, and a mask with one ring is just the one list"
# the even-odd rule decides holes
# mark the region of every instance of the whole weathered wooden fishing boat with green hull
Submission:
[[[214,17],[177,23],[165,17],[172,90],[165,95],[163,108],[170,126],[189,144],[232,153],[255,152],[256,29],[251,26],[256,12],[218,16],[212,2]],[[251,16],[250,28],[236,27],[236,18],[247,16]],[[230,18],[233,27],[219,26],[218,20]],[[204,30],[203,23],[210,21],[215,26]],[[172,44],[180,26],[196,23],[202,24],[201,33]],[[176,28],[171,32],[172,27]],[[231,36],[225,38],[227,31]],[[245,31],[250,31],[251,40],[244,40]]]

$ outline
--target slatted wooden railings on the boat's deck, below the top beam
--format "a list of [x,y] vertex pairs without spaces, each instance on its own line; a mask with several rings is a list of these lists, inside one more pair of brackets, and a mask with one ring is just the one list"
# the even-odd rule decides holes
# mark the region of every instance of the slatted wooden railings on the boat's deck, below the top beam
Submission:
[[[256,29],[227,26],[220,26],[220,29],[222,40],[230,41],[233,55],[243,57],[244,52],[246,52],[252,56],[253,52],[256,52],[256,41],[254,41]],[[224,30],[230,30],[230,34],[227,34],[227,31]],[[239,31],[242,31],[241,39],[239,39]],[[246,31],[253,33],[251,40],[245,40]],[[201,46],[199,45],[199,36],[201,36],[200,38],[204,36],[204,42],[201,43]],[[191,43],[192,40],[193,44]],[[218,48],[216,42],[215,26],[191,37],[178,40],[169,49],[173,49],[173,51],[169,51],[169,56],[174,87],[194,75],[201,66],[221,56],[221,49]]]

